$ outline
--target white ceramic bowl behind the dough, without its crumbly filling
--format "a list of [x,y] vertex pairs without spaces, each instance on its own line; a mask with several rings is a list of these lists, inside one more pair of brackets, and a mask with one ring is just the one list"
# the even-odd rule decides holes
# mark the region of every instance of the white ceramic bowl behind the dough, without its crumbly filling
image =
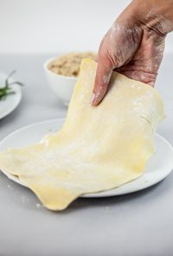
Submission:
[[77,77],[57,75],[53,71],[49,70],[48,63],[54,61],[56,58],[57,56],[48,59],[48,61],[44,63],[44,70],[47,76],[48,84],[53,89],[54,94],[57,95],[61,102],[68,105],[74,90],[74,85],[77,81]]

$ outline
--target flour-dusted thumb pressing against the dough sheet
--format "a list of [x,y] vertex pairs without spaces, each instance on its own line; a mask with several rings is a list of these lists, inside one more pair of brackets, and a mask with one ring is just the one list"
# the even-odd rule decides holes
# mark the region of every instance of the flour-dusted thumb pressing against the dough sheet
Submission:
[[97,106],[106,95],[107,87],[112,75],[112,65],[106,58],[99,58],[98,67],[93,87],[93,95],[91,97],[91,104]]

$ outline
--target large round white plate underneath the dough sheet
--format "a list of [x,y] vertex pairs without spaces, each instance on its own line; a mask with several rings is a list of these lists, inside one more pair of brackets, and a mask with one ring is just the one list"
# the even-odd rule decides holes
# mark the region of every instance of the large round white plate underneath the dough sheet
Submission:
[[[38,122],[23,128],[20,128],[8,135],[0,143],[0,151],[7,148],[20,148],[40,141],[44,135],[54,133],[61,129],[64,119]],[[173,169],[173,148],[168,141],[161,135],[156,135],[156,154],[148,161],[144,174],[137,180],[126,183],[125,185],[101,192],[97,194],[85,194],[83,197],[106,197],[119,194],[129,194],[151,187],[159,181],[162,181]],[[3,171],[3,170],[2,170]],[[25,186],[16,176],[7,174],[10,180]]]

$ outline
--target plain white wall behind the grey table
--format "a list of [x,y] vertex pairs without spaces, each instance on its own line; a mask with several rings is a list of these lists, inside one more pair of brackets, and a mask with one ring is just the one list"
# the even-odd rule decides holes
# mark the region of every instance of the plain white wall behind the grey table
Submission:
[[[0,54],[97,50],[129,3],[131,0],[0,0]],[[173,33],[166,37],[165,50],[172,52]]]

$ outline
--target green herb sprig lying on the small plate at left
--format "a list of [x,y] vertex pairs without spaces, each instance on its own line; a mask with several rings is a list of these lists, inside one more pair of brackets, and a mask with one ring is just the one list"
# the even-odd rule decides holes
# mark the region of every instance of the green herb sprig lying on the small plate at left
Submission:
[[10,82],[10,77],[12,75],[14,75],[16,73],[16,70],[13,70],[10,75],[8,75],[8,77],[5,79],[4,81],[4,86],[3,87],[0,87],[0,101],[3,101],[6,99],[6,97],[8,95],[14,95],[16,94],[16,92],[10,87],[11,85],[13,84],[18,84],[20,86],[23,86],[23,83],[22,82],[17,82],[17,81],[14,81],[14,82]]

